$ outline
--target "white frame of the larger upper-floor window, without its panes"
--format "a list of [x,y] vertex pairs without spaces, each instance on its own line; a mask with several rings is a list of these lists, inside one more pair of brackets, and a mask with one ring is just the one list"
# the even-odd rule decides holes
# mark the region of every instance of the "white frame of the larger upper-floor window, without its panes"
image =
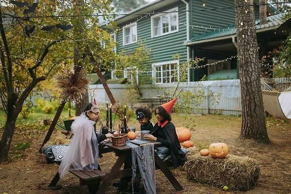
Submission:
[[[173,9],[169,9],[169,10],[167,10],[167,11],[165,11],[165,12],[173,12],[173,11],[178,11],[178,7],[175,7],[175,8],[173,8]],[[151,28],[151,38],[156,38],[156,37],[160,37],[160,36],[164,36],[164,35],[167,35],[167,34],[171,34],[171,33],[175,33],[175,32],[179,32],[179,14],[178,14],[178,12],[176,12],[175,14],[176,14],[176,17],[177,17],[177,23],[176,23],[176,25],[177,25],[177,29],[176,30],[174,30],[174,31],[170,31],[171,30],[171,24],[172,24],[172,21],[171,21],[171,14],[173,14],[173,13],[167,13],[167,14],[159,14],[158,16],[156,16],[156,15],[154,15],[154,16],[151,16],[150,17],[150,28]],[[161,17],[164,17],[164,16],[169,16],[169,20],[170,20],[170,22],[169,22],[169,32],[166,32],[166,33],[163,33],[162,32],[162,18],[161,18],[161,20],[160,20],[160,25],[161,25],[161,34],[160,35],[156,35],[156,36],[154,36],[154,19],[155,18],[158,18],[159,16],[161,16]]]

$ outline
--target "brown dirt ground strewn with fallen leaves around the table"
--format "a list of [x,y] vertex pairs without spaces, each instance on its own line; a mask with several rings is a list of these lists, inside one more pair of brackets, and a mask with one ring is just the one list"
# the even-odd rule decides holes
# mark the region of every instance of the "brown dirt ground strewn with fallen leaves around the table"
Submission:
[[[241,118],[235,116],[206,115],[194,116],[196,125],[192,131],[192,140],[200,150],[208,148],[211,142],[225,142],[230,153],[238,156],[249,156],[256,159],[261,168],[259,181],[255,187],[258,190],[266,190],[277,194],[291,193],[291,121],[282,121],[267,118],[268,134],[271,145],[262,145],[250,140],[240,140],[238,136],[241,128]],[[176,127],[182,127],[185,118],[182,115],[172,115]],[[134,122],[134,121],[133,121]],[[190,121],[193,122],[193,121]],[[137,122],[129,124],[139,129]],[[87,188],[79,185],[79,180],[69,174],[59,184],[60,190],[42,190],[41,184],[48,184],[58,170],[56,164],[46,164],[43,156],[38,154],[38,149],[46,135],[46,130],[22,131],[16,133],[13,145],[20,146],[21,154],[10,152],[9,162],[0,163],[0,194],[84,194]],[[1,136],[1,134],[0,134]],[[27,143],[26,143],[27,142]],[[25,145],[21,145],[25,143]],[[29,146],[28,146],[29,144]],[[19,149],[17,149],[19,150]],[[17,154],[19,158],[15,157]],[[109,170],[116,157],[113,153],[104,154],[99,160],[102,170]],[[221,188],[206,184],[195,183],[188,180],[186,172],[182,168],[172,169],[174,176],[183,186],[183,194],[222,194],[242,193],[224,192]],[[157,193],[171,194],[175,189],[163,176],[161,171],[156,171]],[[115,188],[110,187],[108,194],[115,194]]]

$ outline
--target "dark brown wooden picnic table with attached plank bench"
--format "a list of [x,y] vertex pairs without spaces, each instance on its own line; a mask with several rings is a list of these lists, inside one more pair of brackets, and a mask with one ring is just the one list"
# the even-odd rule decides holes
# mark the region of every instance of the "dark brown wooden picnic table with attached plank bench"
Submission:
[[[160,142],[156,141],[151,141],[151,143],[153,143],[154,146],[161,144]],[[90,194],[105,194],[108,191],[109,186],[112,184],[113,179],[132,175],[131,168],[120,169],[126,159],[130,157],[131,147],[113,146],[111,143],[106,143],[105,146],[105,148],[100,150],[101,153],[115,152],[115,155],[118,157],[108,173],[102,172],[100,166],[98,166],[98,169],[94,171],[69,171],[70,173],[80,178],[81,185],[88,185]],[[183,190],[183,187],[179,184],[178,180],[169,170],[169,165],[166,162],[163,162],[156,152],[154,152],[154,160],[156,170],[160,169],[177,191]],[[51,180],[49,187],[55,187],[59,179],[60,176],[57,172],[55,177]]]

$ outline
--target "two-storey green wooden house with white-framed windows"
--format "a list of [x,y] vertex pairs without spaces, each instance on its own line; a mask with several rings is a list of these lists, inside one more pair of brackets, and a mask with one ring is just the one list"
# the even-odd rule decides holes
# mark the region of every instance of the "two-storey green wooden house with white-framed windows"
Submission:
[[[254,3],[258,4],[259,0]],[[143,18],[141,15],[127,15],[115,19],[121,30],[111,34],[116,42],[114,50],[117,53],[122,50],[130,53],[137,48],[139,39],[144,40],[152,52],[152,62],[147,64],[147,68],[152,71],[155,83],[177,81],[179,78],[171,76],[174,71],[178,71],[175,68],[177,63],[185,63],[190,58],[199,57],[205,58],[199,65],[206,65],[237,55],[234,8],[189,11],[232,6],[233,0],[153,1],[129,12],[153,14]],[[255,6],[255,16],[259,18],[259,6]],[[284,40],[284,35],[274,33],[282,23],[283,15],[268,6],[267,16],[266,24],[256,23],[259,44],[264,43],[261,54],[277,47]],[[108,26],[102,27],[112,32]],[[179,61],[173,60],[172,56],[176,53],[181,55]],[[238,79],[238,65],[236,58],[232,58],[217,65],[189,68],[188,81],[199,81],[204,75],[210,80]]]

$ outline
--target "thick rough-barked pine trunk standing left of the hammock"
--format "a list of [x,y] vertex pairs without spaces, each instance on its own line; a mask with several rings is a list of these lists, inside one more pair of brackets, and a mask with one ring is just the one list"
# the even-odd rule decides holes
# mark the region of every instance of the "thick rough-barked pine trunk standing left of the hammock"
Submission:
[[[253,4],[252,0],[235,0],[236,6]],[[265,123],[261,93],[259,51],[254,7],[236,8],[237,44],[242,96],[242,130],[240,138],[270,143]]]

